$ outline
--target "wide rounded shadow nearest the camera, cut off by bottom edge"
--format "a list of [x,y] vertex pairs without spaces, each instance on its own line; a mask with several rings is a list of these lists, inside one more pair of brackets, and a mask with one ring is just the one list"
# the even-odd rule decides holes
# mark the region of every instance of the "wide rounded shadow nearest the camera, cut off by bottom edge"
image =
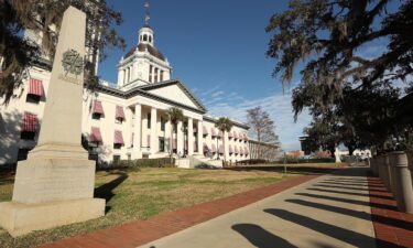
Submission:
[[296,248],[296,246],[293,246],[287,240],[280,238],[254,224],[237,224],[231,228],[247,238],[253,246],[259,248]]

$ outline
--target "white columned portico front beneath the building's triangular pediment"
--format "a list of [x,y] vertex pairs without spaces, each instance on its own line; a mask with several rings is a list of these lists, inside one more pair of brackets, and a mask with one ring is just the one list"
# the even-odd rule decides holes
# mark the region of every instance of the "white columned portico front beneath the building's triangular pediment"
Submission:
[[184,121],[180,121],[171,133],[172,127],[166,115],[171,107],[175,106],[154,106],[150,103],[129,106],[132,121],[128,158],[163,158],[170,154],[170,145],[173,153],[180,157],[202,154],[203,116],[184,110]]

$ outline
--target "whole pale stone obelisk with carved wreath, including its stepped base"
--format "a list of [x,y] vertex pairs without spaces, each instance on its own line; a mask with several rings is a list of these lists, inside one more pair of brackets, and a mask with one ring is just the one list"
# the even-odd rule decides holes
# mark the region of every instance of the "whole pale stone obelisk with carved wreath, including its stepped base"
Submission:
[[0,225],[12,236],[105,215],[94,198],[96,163],[81,147],[86,14],[63,17],[37,145],[18,163],[13,197],[0,203]]

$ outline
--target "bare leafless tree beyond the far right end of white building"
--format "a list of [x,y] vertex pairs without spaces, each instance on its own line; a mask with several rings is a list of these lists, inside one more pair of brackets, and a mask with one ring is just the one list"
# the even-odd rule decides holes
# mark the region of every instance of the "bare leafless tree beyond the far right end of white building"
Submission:
[[[247,110],[248,125],[251,127],[251,134],[259,142],[278,143],[278,136],[275,134],[275,123],[270,115],[262,110],[261,107],[256,107]],[[262,155],[261,145],[258,148],[259,158]]]

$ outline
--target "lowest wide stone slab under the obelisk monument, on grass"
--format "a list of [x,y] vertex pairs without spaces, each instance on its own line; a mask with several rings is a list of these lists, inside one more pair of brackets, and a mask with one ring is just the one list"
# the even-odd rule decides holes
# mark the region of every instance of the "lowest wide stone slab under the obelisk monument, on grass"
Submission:
[[32,230],[86,222],[105,215],[105,200],[85,198],[41,204],[0,203],[0,225],[13,237]]

